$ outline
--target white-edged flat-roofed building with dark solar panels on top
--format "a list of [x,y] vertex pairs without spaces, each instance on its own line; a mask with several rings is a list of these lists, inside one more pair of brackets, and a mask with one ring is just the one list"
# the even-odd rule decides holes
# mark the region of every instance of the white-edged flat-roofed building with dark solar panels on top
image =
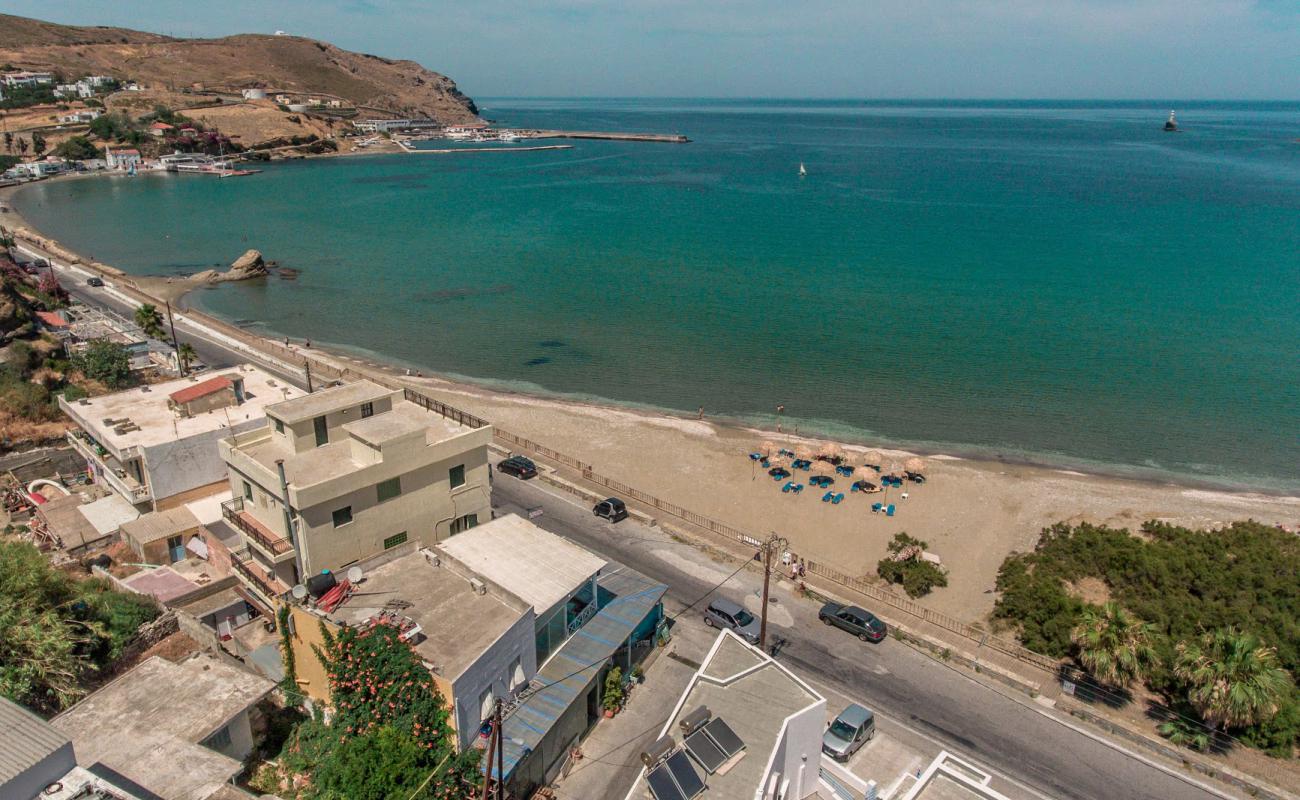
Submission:
[[641,770],[627,800],[654,797],[651,782],[688,788],[690,775],[703,784],[690,795],[701,800],[803,800],[819,790],[826,717],[812,687],[723,631],[651,745],[655,765]]

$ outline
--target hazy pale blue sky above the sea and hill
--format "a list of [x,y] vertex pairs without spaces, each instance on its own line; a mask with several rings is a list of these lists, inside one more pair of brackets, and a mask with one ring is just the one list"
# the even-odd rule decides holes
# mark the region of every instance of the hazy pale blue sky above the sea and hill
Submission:
[[0,0],[413,59],[485,96],[1300,100],[1300,0]]

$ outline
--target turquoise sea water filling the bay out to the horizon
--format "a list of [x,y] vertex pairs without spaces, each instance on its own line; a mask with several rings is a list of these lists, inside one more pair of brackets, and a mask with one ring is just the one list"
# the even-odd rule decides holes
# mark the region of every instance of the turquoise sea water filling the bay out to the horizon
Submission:
[[1300,490],[1300,104],[1183,103],[1178,134],[1145,103],[482,105],[693,142],[48,182],[16,203],[130,272],[257,247],[300,277],[194,302],[426,371]]

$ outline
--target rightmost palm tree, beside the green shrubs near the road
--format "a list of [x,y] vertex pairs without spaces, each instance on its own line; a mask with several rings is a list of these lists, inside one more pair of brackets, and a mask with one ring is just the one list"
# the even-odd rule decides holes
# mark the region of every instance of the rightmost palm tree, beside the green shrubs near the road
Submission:
[[1235,627],[1179,643],[1174,675],[1187,684],[1192,708],[1219,731],[1271,719],[1291,688],[1277,649]]

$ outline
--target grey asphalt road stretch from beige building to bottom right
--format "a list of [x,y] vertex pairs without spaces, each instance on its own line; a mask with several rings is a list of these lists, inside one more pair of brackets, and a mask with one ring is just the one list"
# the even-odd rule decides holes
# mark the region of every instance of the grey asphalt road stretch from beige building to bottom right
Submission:
[[[667,584],[668,615],[699,601],[738,566],[714,562],[699,549],[633,519],[610,526],[586,505],[540,481],[493,475],[498,514],[541,506],[543,514],[534,520],[541,527]],[[762,576],[746,570],[718,593],[754,610],[760,587]],[[777,602],[768,617],[770,641],[776,636],[788,640],[779,654],[781,662],[814,683],[866,701],[884,722],[984,764],[1013,784],[1069,800],[1238,796],[1176,766],[1157,766],[1145,754],[1117,749],[1057,712],[994,691],[892,637],[868,645],[823,626],[818,606],[789,589],[788,581],[779,583]],[[688,614],[698,614],[705,602]]]

